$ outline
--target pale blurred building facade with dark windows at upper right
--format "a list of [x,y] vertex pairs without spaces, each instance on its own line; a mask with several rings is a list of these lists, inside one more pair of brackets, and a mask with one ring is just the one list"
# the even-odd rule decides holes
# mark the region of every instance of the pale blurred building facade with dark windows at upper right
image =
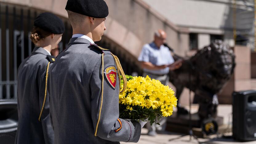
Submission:
[[189,30],[190,49],[201,49],[214,39],[254,49],[254,0],[143,1],[176,26]]

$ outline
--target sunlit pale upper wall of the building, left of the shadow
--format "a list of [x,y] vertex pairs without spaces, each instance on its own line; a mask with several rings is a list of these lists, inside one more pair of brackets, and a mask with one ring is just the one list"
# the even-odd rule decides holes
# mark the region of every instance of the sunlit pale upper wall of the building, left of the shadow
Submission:
[[218,29],[227,4],[201,0],[143,0],[180,26]]

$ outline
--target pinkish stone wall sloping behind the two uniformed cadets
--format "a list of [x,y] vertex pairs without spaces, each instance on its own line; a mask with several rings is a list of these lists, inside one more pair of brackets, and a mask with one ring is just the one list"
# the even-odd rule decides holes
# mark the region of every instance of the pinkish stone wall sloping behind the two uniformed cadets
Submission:
[[[50,11],[67,18],[65,10],[67,0],[0,0],[11,4],[23,5],[44,11]],[[150,8],[142,0],[105,0],[109,6],[105,36],[133,55],[134,60],[140,54],[142,46],[153,40],[158,29],[166,31],[167,43],[179,55],[189,50],[188,30],[179,29],[161,14]]]

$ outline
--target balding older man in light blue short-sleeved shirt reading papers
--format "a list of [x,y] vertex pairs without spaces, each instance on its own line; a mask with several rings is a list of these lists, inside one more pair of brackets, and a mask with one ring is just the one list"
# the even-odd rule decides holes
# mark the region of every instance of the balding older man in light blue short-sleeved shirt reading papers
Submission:
[[[159,80],[162,84],[167,85],[169,81],[169,70],[178,69],[181,63],[174,63],[174,59],[168,47],[163,44],[166,41],[166,33],[158,30],[154,35],[154,42],[146,44],[138,57],[143,68],[143,77],[149,75],[150,78]],[[147,123],[148,135],[155,136],[156,130],[165,130],[167,118],[162,118],[159,123],[161,126]]]

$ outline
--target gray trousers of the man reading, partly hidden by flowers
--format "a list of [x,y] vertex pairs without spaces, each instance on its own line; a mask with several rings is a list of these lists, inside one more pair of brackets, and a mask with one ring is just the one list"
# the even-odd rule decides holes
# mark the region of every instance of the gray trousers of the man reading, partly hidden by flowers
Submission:
[[[143,77],[149,76],[151,79],[157,79],[159,80],[163,85],[167,85],[169,82],[169,75],[165,74],[163,76],[155,75],[155,74],[149,74],[144,72]],[[158,123],[160,123],[160,126],[156,123],[153,123],[152,126],[150,126],[150,122],[146,123],[146,128],[149,131],[164,131],[167,125],[167,117],[163,117],[160,119],[160,121],[157,120]]]

